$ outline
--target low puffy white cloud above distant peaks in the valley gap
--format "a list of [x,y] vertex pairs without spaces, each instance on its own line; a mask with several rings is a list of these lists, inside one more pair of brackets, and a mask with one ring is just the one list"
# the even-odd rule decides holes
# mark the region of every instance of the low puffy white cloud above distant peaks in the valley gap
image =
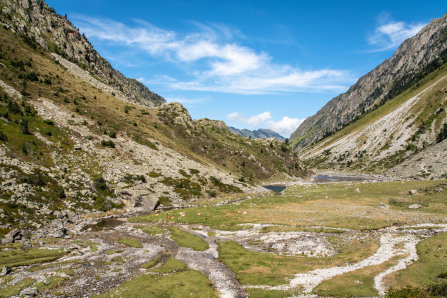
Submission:
[[290,136],[292,132],[294,132],[298,128],[298,126],[305,120],[284,116],[279,121],[273,121],[271,120],[272,115],[268,111],[251,117],[245,117],[238,112],[233,112],[229,114],[227,118],[231,121],[244,123],[251,126],[252,128],[268,128],[286,137]]

